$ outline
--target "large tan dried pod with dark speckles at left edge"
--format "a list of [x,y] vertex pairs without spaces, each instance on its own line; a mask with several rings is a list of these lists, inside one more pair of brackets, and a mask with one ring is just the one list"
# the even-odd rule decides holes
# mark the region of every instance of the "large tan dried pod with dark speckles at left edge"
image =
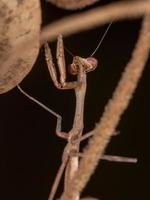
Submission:
[[0,93],[29,73],[39,52],[39,0],[0,1]]

